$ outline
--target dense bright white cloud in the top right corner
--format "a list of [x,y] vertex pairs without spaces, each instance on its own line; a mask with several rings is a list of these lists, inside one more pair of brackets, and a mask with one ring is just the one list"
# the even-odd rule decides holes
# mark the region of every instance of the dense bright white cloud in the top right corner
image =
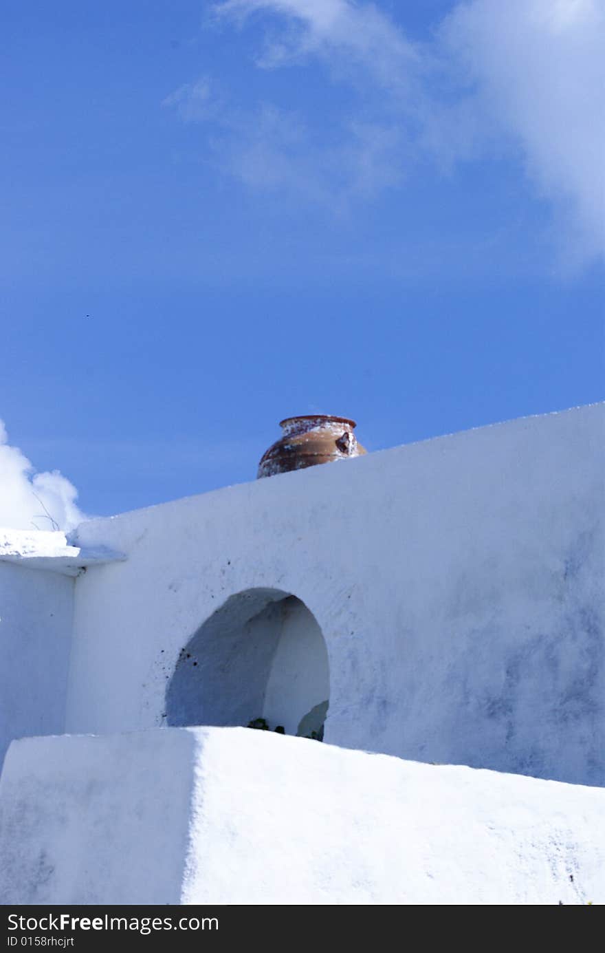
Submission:
[[605,251],[605,5],[474,0],[441,37],[484,115],[518,144],[543,197],[567,207],[582,251]]

